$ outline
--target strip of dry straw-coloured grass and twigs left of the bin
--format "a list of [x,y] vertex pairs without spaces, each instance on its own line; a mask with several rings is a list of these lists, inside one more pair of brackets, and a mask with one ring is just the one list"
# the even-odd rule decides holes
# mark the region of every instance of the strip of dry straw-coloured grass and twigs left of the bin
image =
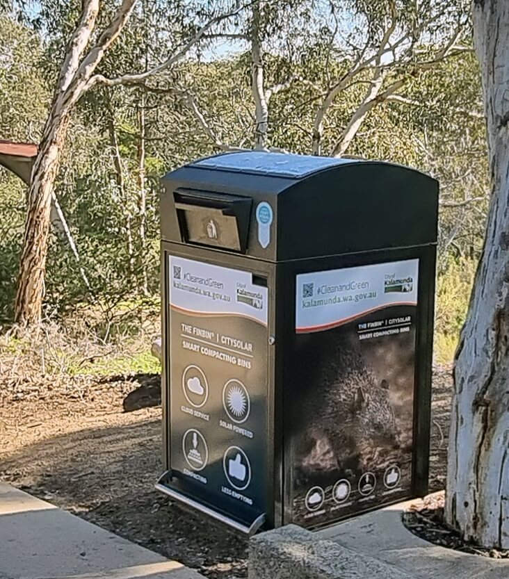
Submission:
[[158,316],[134,308],[108,319],[89,310],[59,323],[12,327],[0,335],[0,405],[51,393],[80,396],[100,377],[157,373],[150,354],[157,334]]

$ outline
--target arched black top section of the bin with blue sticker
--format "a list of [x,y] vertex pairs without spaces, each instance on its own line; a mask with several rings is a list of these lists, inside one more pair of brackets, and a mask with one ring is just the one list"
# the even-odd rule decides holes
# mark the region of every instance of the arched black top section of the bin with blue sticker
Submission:
[[161,236],[176,243],[286,261],[437,242],[437,181],[385,161],[231,152],[163,184]]

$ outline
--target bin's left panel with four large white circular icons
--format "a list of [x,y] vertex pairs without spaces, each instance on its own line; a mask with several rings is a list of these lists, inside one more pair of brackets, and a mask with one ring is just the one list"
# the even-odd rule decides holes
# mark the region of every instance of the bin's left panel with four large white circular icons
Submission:
[[171,486],[249,524],[266,509],[268,288],[168,259]]

